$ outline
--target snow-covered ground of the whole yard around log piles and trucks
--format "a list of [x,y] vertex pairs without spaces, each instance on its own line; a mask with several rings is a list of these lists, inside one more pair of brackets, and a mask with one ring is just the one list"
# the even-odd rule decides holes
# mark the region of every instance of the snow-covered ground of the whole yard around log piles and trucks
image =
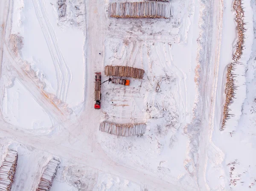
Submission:
[[[233,0],[170,0],[171,19],[111,18],[113,2],[127,0],[0,1],[0,165],[17,151],[11,190],[35,190],[52,158],[61,163],[51,191],[256,190],[255,1],[242,0],[247,30],[225,131]],[[95,72],[108,80],[108,65],[145,74],[103,83],[95,110]],[[99,131],[102,121],[146,131],[117,137]]]

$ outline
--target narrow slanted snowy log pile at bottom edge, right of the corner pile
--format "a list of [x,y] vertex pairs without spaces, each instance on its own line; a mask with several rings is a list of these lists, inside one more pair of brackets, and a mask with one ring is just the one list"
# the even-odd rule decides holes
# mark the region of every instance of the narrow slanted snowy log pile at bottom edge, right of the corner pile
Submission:
[[52,182],[55,178],[55,175],[58,170],[58,165],[60,162],[56,159],[52,159],[48,162],[46,169],[44,170],[42,177],[40,178],[40,182],[38,184],[38,188],[36,191],[49,191]]

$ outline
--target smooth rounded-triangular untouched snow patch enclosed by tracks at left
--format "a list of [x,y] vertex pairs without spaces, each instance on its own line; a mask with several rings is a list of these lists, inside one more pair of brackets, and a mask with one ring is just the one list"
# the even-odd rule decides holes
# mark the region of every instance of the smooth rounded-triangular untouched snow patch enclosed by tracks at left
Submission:
[[24,129],[49,128],[48,114],[34,100],[27,89],[15,79],[12,87],[5,88],[2,111],[5,120]]

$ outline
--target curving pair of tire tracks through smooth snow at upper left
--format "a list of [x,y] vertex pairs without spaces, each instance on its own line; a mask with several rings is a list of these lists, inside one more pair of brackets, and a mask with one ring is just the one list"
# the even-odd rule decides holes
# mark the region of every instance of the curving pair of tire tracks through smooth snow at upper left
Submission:
[[43,0],[32,0],[35,8],[35,14],[41,26],[44,38],[46,40],[49,52],[52,57],[52,62],[55,67],[55,73],[58,83],[56,96],[63,102],[67,102],[67,93],[72,80],[70,68],[64,60],[61,48],[58,46],[58,39],[55,31],[49,21],[47,12],[44,8]]

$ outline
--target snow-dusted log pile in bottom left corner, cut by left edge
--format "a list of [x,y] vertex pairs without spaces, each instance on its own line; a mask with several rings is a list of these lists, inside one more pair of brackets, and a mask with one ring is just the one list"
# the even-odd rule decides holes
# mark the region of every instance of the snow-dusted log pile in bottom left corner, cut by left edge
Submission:
[[9,150],[0,167],[0,191],[10,191],[17,166],[18,154]]

